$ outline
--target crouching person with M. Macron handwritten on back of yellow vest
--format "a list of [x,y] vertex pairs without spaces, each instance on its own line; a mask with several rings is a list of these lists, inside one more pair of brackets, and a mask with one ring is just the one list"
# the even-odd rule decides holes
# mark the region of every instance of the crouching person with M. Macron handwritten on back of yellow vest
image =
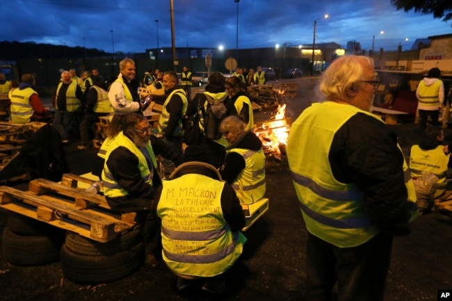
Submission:
[[163,260],[177,275],[177,290],[201,283],[204,291],[222,293],[224,273],[243,252],[245,215],[203,147],[185,149],[184,163],[163,182],[157,213]]

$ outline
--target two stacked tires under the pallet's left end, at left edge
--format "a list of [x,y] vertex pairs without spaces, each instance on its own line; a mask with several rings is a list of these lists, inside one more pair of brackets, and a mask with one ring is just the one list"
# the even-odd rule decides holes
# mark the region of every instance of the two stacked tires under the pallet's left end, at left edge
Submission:
[[64,238],[62,229],[10,213],[2,236],[3,258],[15,266],[40,266],[58,261]]

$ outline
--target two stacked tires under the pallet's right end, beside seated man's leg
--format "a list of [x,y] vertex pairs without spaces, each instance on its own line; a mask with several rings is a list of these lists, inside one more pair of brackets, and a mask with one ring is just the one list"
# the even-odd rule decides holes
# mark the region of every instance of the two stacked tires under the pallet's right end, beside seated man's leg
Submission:
[[63,274],[79,284],[102,284],[130,275],[143,265],[143,234],[139,228],[106,243],[66,232],[60,260]]

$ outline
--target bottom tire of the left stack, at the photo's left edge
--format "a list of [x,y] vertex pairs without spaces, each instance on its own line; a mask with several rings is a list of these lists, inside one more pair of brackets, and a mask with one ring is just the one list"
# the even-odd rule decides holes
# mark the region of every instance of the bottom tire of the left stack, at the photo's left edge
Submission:
[[2,236],[3,258],[16,266],[40,266],[60,259],[61,236],[22,236],[6,227]]

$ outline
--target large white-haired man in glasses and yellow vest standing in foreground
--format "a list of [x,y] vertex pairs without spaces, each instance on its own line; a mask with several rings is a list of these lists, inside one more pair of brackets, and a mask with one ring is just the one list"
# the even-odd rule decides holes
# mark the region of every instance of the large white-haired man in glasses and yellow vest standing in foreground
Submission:
[[416,193],[396,134],[371,113],[373,60],[342,56],[325,101],[291,125],[286,154],[307,236],[305,300],[383,300],[393,236],[410,234]]

